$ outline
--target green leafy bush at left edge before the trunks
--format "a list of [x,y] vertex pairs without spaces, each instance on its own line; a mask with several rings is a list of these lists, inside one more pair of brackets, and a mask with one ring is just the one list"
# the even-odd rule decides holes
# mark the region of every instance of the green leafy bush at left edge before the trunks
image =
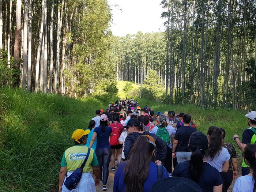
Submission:
[[16,61],[11,56],[10,68],[8,67],[7,50],[0,49],[0,85],[12,85],[17,81],[17,77],[20,75],[20,70],[14,68]]

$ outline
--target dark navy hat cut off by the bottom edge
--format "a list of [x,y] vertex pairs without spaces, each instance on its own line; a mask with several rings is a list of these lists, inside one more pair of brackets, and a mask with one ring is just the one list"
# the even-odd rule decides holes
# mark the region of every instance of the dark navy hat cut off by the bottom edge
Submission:
[[150,192],[203,192],[192,180],[184,177],[167,177],[154,182]]

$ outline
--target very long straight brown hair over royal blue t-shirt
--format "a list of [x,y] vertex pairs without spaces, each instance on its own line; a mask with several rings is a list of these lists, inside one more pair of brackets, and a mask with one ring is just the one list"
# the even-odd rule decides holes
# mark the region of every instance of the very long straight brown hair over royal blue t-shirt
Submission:
[[143,184],[149,173],[154,145],[146,136],[139,136],[131,150],[131,157],[124,168],[126,192],[143,192]]

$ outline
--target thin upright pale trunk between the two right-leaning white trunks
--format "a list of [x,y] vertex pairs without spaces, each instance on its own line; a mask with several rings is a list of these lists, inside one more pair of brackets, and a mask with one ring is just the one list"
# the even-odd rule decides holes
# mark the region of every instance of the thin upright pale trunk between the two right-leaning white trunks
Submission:
[[50,23],[50,80],[49,80],[49,92],[52,93],[52,74],[53,74],[53,14],[54,14],[54,0],[52,0],[52,12]]

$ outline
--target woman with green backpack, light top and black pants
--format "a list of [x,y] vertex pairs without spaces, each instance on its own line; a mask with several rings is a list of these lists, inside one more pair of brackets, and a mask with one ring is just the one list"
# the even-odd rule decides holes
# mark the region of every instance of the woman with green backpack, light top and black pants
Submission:
[[161,114],[159,116],[160,125],[155,126],[152,130],[150,130],[150,133],[154,133],[159,138],[163,139],[163,141],[167,144],[167,153],[166,153],[166,159],[164,162],[164,166],[168,172],[168,174],[172,175],[172,142],[171,142],[171,135],[176,133],[176,130],[170,126],[167,125],[167,120],[165,115]]

